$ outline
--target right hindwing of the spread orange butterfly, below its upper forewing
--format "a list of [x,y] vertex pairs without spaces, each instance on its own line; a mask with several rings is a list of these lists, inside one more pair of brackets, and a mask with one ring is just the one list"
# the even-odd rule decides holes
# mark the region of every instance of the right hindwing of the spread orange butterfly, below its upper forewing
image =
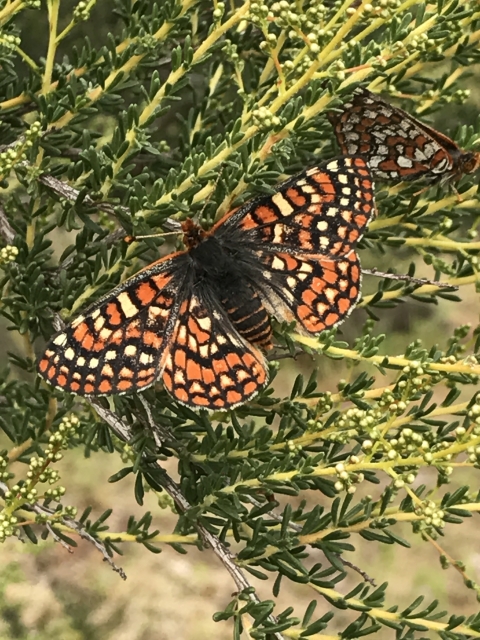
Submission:
[[343,322],[360,297],[362,272],[354,250],[340,258],[267,254],[264,263],[277,296],[272,313],[296,320],[303,333],[317,334]]

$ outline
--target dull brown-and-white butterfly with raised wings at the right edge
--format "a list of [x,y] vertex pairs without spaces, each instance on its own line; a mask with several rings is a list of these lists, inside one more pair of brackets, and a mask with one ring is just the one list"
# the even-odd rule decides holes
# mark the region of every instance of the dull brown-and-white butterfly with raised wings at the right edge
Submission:
[[328,118],[342,153],[366,157],[372,175],[381,180],[436,182],[480,167],[480,153],[460,149],[367,89],[356,89],[343,113],[332,111]]

